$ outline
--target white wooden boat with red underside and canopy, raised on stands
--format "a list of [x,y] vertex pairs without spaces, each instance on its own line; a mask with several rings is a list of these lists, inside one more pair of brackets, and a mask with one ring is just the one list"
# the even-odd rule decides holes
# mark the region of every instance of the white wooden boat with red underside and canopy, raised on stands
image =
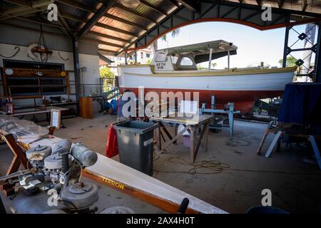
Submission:
[[234,103],[235,110],[248,113],[255,100],[282,95],[285,85],[291,83],[295,68],[225,68],[222,70],[198,70],[198,63],[237,53],[238,47],[227,41],[210,41],[187,46],[165,48],[156,51],[149,65],[118,66],[121,93],[131,90],[138,95],[138,87],[144,92],[176,93],[199,92],[200,105],[215,95],[217,108]]

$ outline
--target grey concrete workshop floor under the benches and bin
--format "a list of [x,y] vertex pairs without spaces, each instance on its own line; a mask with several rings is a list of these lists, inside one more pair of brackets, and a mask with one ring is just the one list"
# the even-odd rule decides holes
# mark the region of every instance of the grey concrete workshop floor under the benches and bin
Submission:
[[[115,121],[115,115],[102,114],[96,115],[93,120],[63,120],[67,128],[57,130],[55,135],[83,142],[92,150],[104,154],[108,129]],[[188,162],[188,148],[183,147],[182,140],[178,140],[178,145],[170,147],[170,152],[154,157],[154,177],[230,213],[245,213],[250,207],[260,205],[263,189],[272,191],[274,207],[291,213],[319,213],[321,172],[317,165],[302,162],[303,156],[310,151],[296,145],[290,149],[282,144],[281,152],[273,152],[270,158],[256,155],[265,128],[265,124],[235,121],[234,138],[229,137],[228,129],[220,133],[210,132],[208,152],[200,150],[195,162],[213,161],[216,170],[197,170],[203,174],[190,175],[188,170],[193,166],[173,163],[173,157],[178,157],[174,161],[183,159]],[[271,140],[272,135],[267,138],[263,152]],[[0,146],[1,173],[5,172],[10,160],[9,148]],[[214,171],[218,173],[204,174]],[[95,204],[98,212],[122,205],[138,213],[164,213],[151,204],[105,186],[100,187],[99,196],[99,202]],[[15,200],[5,200],[5,203],[14,204]]]

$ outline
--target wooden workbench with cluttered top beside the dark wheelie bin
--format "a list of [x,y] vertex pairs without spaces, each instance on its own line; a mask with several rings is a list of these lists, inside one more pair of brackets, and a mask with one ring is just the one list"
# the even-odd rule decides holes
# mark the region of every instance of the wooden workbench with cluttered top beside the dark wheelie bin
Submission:
[[[208,150],[208,129],[213,116],[194,114],[193,118],[188,118],[181,115],[182,113],[175,113],[173,117],[152,117],[150,118],[150,120],[156,121],[160,125],[160,128],[158,130],[158,150],[160,150],[161,152],[165,151],[170,145],[175,144],[177,139],[180,136],[183,136],[183,133],[188,131],[188,133],[190,133],[190,162],[193,163],[202,142],[205,152],[207,152]],[[175,125],[174,136],[170,135],[168,130],[165,128],[164,123]],[[180,124],[184,126],[184,129],[180,131],[180,133],[177,133],[177,125]],[[161,136],[163,136],[161,130],[163,130],[165,135],[167,135],[170,140],[164,147],[162,147],[161,145]],[[164,137],[163,140],[165,141]]]

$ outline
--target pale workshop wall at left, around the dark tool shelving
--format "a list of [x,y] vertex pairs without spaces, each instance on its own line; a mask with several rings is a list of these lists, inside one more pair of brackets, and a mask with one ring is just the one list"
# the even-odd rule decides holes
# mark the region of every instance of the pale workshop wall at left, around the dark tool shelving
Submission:
[[[35,30],[39,26],[34,26]],[[31,43],[37,43],[39,40],[40,32],[27,30],[24,28],[15,28],[12,26],[0,25],[0,31],[6,33],[0,33],[0,67],[4,66],[3,59],[17,60],[17,61],[33,61],[28,55],[28,46]],[[47,63],[63,63],[66,71],[73,71],[73,53],[71,39],[64,34],[53,35],[46,33],[52,28],[44,27],[44,36],[46,45],[49,50],[53,51]],[[55,28],[54,28],[55,29]],[[58,33],[58,31],[55,31]],[[21,37],[21,34],[24,34]],[[16,53],[14,49],[16,46],[20,48],[20,51]],[[98,84],[99,83],[99,57],[98,57],[98,44],[92,42],[79,42],[79,64],[81,68],[81,83],[83,84]],[[11,57],[16,53],[16,56]],[[59,56],[60,55],[60,56]],[[62,58],[61,58],[62,57]],[[74,84],[74,74],[69,72],[69,81]],[[75,87],[70,86],[70,93],[75,93]],[[86,86],[85,93],[98,93],[98,86]],[[0,86],[0,95],[3,95],[3,87]],[[85,94],[88,95],[88,94]],[[70,97],[72,100],[76,99],[76,96]]]

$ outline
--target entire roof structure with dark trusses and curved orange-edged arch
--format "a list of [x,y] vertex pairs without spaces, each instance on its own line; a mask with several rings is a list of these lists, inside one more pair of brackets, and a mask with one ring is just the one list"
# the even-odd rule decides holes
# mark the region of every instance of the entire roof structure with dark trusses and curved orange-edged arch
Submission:
[[[230,21],[259,29],[284,26],[289,22],[291,14],[310,17],[310,21],[320,21],[320,14],[312,12],[311,4],[313,3],[307,0],[294,3],[300,4],[300,7],[296,6],[296,9],[300,10],[296,11],[289,9],[289,2],[292,3],[292,1],[276,0],[277,4],[274,4],[275,8],[272,9],[272,21],[260,21],[260,14],[263,12],[261,6],[265,4],[265,0],[163,0],[158,4],[149,0],[141,0],[141,6],[144,6],[144,9],[156,14],[127,8],[117,0],[96,0],[96,4],[91,4],[93,7],[89,7],[90,4],[86,1],[83,3],[71,0],[3,1],[14,4],[14,7],[0,10],[0,23],[5,24],[9,22],[9,19],[14,18],[60,28],[67,36],[76,34],[77,38],[107,46],[105,51],[110,52],[117,49],[117,52],[114,51],[115,54],[145,47],[172,29],[198,21]],[[61,9],[59,9],[58,21],[49,23],[44,19],[44,13],[46,13],[46,6],[51,2],[58,3]],[[171,8],[164,7],[163,3]],[[114,13],[115,11],[109,11],[112,8],[121,11],[122,14],[118,16]],[[68,10],[65,11],[65,9]],[[75,9],[87,16],[73,14]],[[35,14],[42,15],[42,19],[37,19]],[[108,24],[100,20],[103,17],[109,19]],[[300,17],[295,19],[300,19]]]

